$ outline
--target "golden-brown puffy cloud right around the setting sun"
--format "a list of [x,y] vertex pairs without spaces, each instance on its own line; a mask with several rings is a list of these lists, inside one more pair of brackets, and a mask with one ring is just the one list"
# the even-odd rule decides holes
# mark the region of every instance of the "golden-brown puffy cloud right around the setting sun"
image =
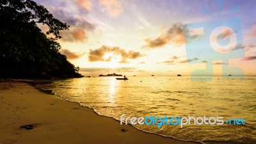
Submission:
[[[110,54],[108,56],[108,54]],[[99,49],[92,50],[90,49],[90,53],[88,56],[89,61],[111,61],[113,59],[118,60],[118,63],[129,63],[127,59],[133,60],[136,58],[140,58],[143,56],[140,52],[135,51],[125,51],[120,47],[108,47],[102,45]]]

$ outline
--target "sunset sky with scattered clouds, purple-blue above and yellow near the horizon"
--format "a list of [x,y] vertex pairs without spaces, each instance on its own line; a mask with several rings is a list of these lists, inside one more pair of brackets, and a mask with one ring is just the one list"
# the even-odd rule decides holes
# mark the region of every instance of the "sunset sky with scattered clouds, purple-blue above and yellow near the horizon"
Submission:
[[86,76],[256,76],[254,0],[35,1],[70,26],[60,52]]

